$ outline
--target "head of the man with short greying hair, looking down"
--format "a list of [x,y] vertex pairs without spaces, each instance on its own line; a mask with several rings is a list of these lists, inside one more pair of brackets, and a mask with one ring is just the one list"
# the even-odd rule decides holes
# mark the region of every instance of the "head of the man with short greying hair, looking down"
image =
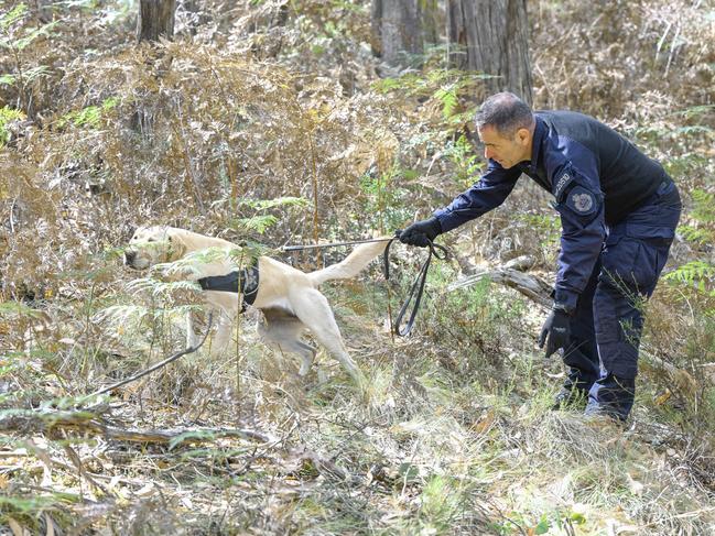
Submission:
[[484,101],[475,118],[484,155],[509,168],[531,160],[534,118],[531,108],[510,92]]

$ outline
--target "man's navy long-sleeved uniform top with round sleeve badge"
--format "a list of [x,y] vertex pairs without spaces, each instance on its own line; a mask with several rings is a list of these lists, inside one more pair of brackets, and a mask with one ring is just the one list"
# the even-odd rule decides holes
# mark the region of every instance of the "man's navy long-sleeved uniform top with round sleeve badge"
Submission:
[[505,169],[489,160],[481,179],[434,216],[442,232],[498,207],[526,174],[556,199],[562,237],[556,302],[573,309],[594,269],[607,226],[624,219],[670,177],[615,130],[572,111],[534,112],[531,161]]

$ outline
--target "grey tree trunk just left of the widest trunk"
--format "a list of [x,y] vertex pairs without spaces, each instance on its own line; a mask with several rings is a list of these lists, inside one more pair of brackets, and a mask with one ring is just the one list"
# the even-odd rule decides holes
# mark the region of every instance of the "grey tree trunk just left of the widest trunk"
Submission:
[[372,52],[391,67],[421,63],[420,0],[372,0]]

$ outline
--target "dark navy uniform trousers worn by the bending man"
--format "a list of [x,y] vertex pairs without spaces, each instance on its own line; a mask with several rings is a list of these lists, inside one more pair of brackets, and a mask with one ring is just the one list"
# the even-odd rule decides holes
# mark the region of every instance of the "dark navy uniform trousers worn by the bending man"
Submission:
[[653,294],[681,212],[678,188],[656,194],[607,229],[607,238],[572,317],[564,353],[567,389],[588,392],[587,413],[625,419],[633,403],[643,305]]

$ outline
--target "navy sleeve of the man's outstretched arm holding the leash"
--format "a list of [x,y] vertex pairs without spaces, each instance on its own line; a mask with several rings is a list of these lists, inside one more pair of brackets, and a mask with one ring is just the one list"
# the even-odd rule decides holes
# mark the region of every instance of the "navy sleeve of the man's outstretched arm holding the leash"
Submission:
[[521,171],[517,167],[505,169],[490,160],[487,172],[478,183],[455,197],[446,207],[434,211],[442,232],[451,231],[497,208],[511,193],[520,175]]

